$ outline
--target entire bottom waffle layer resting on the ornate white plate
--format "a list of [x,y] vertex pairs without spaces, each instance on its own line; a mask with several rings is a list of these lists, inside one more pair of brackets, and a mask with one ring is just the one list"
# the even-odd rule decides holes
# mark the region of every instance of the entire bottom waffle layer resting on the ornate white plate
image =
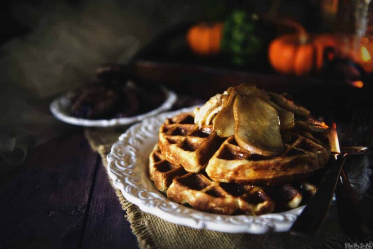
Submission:
[[204,170],[188,173],[183,166],[168,162],[158,145],[150,154],[149,177],[171,200],[224,215],[262,215],[273,212],[275,207],[279,210],[296,208],[317,189],[307,182],[264,187],[214,182]]

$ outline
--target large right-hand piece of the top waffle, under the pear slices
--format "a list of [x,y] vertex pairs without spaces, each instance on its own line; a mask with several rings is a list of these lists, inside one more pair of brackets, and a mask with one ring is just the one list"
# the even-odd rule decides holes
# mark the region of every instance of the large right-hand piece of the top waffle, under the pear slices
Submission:
[[207,175],[217,182],[287,183],[301,180],[322,168],[329,151],[297,133],[289,132],[288,143],[277,157],[252,154],[239,147],[234,136],[228,137],[209,160]]

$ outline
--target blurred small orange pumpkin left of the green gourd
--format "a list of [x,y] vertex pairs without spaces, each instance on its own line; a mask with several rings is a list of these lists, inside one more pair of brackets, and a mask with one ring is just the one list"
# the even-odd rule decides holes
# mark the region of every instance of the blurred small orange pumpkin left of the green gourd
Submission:
[[186,34],[189,48],[200,55],[216,54],[220,51],[223,24],[199,23],[192,26]]

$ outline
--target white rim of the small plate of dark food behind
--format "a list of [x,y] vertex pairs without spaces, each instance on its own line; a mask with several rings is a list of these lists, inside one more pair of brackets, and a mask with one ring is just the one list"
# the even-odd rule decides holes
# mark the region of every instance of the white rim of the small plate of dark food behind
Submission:
[[176,101],[176,94],[162,88],[165,93],[166,100],[165,102],[156,109],[144,114],[131,117],[119,117],[111,119],[85,119],[72,116],[70,113],[71,102],[68,100],[66,95],[60,96],[59,98],[53,100],[50,105],[50,110],[53,116],[57,119],[73,125],[79,126],[89,126],[89,127],[113,127],[119,125],[130,125],[138,121],[143,120],[146,117],[157,115],[158,113],[170,110],[173,103]]

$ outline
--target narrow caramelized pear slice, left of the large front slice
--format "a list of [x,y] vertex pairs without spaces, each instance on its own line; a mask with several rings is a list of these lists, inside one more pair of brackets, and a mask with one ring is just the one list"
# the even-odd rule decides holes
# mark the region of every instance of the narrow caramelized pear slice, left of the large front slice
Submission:
[[223,104],[220,112],[215,116],[214,131],[220,137],[233,136],[235,134],[235,117],[233,115],[233,103],[237,92],[232,90],[229,93],[228,100]]

